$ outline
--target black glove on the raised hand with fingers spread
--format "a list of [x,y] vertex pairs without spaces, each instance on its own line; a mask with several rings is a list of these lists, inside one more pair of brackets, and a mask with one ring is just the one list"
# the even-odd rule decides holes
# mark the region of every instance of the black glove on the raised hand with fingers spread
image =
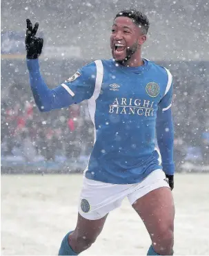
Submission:
[[26,30],[26,52],[27,59],[37,59],[41,54],[41,50],[43,47],[43,38],[35,37],[37,30],[39,28],[38,22],[34,24],[34,28],[32,28],[32,23],[30,19],[26,19],[27,30]]

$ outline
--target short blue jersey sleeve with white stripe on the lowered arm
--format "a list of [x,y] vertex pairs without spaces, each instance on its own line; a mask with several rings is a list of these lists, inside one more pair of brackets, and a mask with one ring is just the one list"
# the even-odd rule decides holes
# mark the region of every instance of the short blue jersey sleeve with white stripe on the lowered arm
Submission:
[[166,90],[163,95],[163,98],[161,98],[159,102],[159,109],[161,111],[166,111],[170,109],[172,106],[172,92],[173,92],[173,83],[172,83],[172,75],[170,71],[168,71],[167,68],[165,68],[168,74],[168,79],[167,79],[167,85],[166,85]]

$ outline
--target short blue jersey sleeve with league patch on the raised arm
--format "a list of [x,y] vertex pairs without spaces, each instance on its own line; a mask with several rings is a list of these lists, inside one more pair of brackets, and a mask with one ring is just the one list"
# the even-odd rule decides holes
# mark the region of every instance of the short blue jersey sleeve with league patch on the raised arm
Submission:
[[97,68],[95,62],[80,68],[65,80],[61,86],[72,96],[73,103],[79,103],[92,97],[95,88]]

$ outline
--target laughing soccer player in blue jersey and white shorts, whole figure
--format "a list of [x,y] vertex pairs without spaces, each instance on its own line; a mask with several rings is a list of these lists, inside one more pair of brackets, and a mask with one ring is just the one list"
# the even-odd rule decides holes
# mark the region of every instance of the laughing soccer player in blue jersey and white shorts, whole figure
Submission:
[[126,196],[150,234],[148,255],[172,255],[172,75],[141,57],[148,18],[137,10],[119,12],[110,35],[113,58],[83,66],[52,90],[39,71],[43,39],[35,36],[38,26],[33,28],[27,20],[27,64],[37,107],[50,111],[88,100],[94,125],[94,147],[83,175],[77,226],[63,238],[59,255],[78,255],[89,248],[108,213]]

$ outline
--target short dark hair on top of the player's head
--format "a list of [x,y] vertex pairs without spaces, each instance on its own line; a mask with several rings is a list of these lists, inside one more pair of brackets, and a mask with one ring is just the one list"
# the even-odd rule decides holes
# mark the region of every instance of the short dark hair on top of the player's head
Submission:
[[[121,10],[116,16],[117,17],[128,17],[132,19],[132,21],[141,28],[141,33],[146,35],[148,33],[148,29],[150,26],[150,21],[148,20],[148,17],[143,12],[139,12],[135,9],[130,10]],[[114,19],[114,21],[115,21]]]

